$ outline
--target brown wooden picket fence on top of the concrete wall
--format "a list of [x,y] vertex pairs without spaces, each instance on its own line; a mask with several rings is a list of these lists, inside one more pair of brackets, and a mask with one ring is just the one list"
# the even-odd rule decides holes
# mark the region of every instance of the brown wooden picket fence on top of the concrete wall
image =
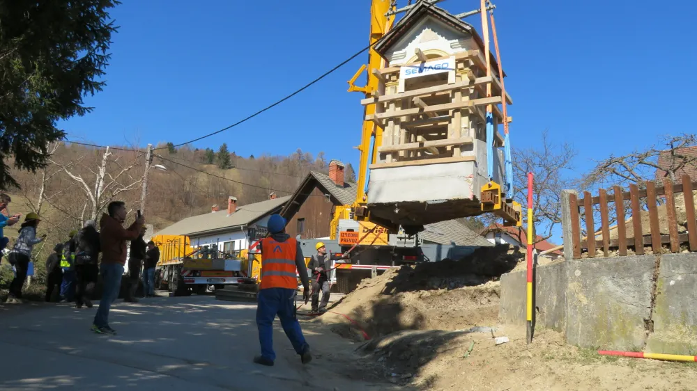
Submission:
[[[697,251],[697,220],[695,218],[694,189],[697,182],[691,182],[687,175],[682,176],[682,183],[674,184],[671,179],[664,179],[664,186],[657,187],[655,182],[646,182],[645,189],[639,189],[636,184],[629,186],[629,191],[623,192],[620,186],[613,186],[612,193],[599,190],[598,196],[593,197],[588,191],[583,192],[583,198],[576,194],[568,194],[569,212],[565,215],[564,224],[565,255],[569,258],[572,246],[572,258],[579,259],[584,253],[588,257],[596,257],[597,250],[602,249],[604,257],[617,250],[620,257],[627,256],[627,249],[632,248],[634,254],[643,255],[644,246],[650,246],[652,253],[679,253],[681,245],[686,245],[690,251]],[[684,214],[686,216],[687,233],[679,233],[675,209],[675,195],[684,193]],[[666,206],[665,220],[668,224],[668,234],[661,234],[659,221],[659,199],[664,198]],[[625,201],[629,201],[631,222],[625,216]],[[598,205],[594,209],[594,205]],[[643,234],[641,212],[648,209],[650,234]],[[610,208],[614,210],[611,211]],[[682,207],[682,205],[681,205]],[[662,207],[661,207],[662,208]],[[599,213],[597,211],[599,209]],[[600,229],[595,228],[594,212],[600,216]],[[617,221],[616,226],[610,227],[611,213]],[[585,216],[585,232],[588,239],[581,237],[581,218]],[[627,237],[627,224],[631,224],[633,237]],[[570,225],[570,227],[569,227]],[[611,239],[610,231],[617,230],[617,239]],[[598,237],[600,239],[598,239]],[[567,238],[570,238],[570,243]],[[595,239],[595,240],[592,240]],[[664,244],[666,247],[664,248]]]

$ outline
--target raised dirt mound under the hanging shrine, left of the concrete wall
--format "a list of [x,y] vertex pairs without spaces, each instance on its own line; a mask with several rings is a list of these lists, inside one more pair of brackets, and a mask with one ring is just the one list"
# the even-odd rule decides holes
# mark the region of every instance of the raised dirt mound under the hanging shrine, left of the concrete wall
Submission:
[[510,254],[510,247],[504,245],[482,248],[464,260],[402,266],[362,280],[316,321],[356,340],[365,338],[360,329],[378,337],[400,330],[457,330],[496,324],[500,298],[496,280],[518,262],[519,255]]

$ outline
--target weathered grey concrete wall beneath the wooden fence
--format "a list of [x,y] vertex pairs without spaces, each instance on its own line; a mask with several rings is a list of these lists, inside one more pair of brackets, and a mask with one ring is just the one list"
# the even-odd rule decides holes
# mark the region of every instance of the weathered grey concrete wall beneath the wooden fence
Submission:
[[[697,354],[697,254],[564,261],[535,269],[536,326],[593,349]],[[501,277],[499,317],[525,324],[526,272]]]

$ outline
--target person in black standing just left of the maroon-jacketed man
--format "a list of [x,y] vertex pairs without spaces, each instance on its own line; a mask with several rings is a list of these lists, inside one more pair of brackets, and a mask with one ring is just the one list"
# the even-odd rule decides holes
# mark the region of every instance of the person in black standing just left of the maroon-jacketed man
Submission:
[[97,259],[100,252],[97,222],[89,220],[75,237],[75,308],[92,308],[92,294],[99,276]]

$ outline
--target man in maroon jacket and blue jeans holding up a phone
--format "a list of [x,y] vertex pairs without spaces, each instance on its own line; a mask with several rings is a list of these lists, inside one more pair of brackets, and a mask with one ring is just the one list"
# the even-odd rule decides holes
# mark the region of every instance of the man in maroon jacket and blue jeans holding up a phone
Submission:
[[123,265],[126,263],[126,241],[135,240],[145,223],[143,216],[123,228],[126,218],[126,206],[123,201],[114,201],[107,207],[109,214],[102,214],[99,226],[99,241],[102,248],[102,264],[100,275],[104,282],[104,293],[99,301],[99,309],[95,314],[92,330],[95,333],[115,335],[116,331],[109,327],[109,308],[118,297],[123,276]]

